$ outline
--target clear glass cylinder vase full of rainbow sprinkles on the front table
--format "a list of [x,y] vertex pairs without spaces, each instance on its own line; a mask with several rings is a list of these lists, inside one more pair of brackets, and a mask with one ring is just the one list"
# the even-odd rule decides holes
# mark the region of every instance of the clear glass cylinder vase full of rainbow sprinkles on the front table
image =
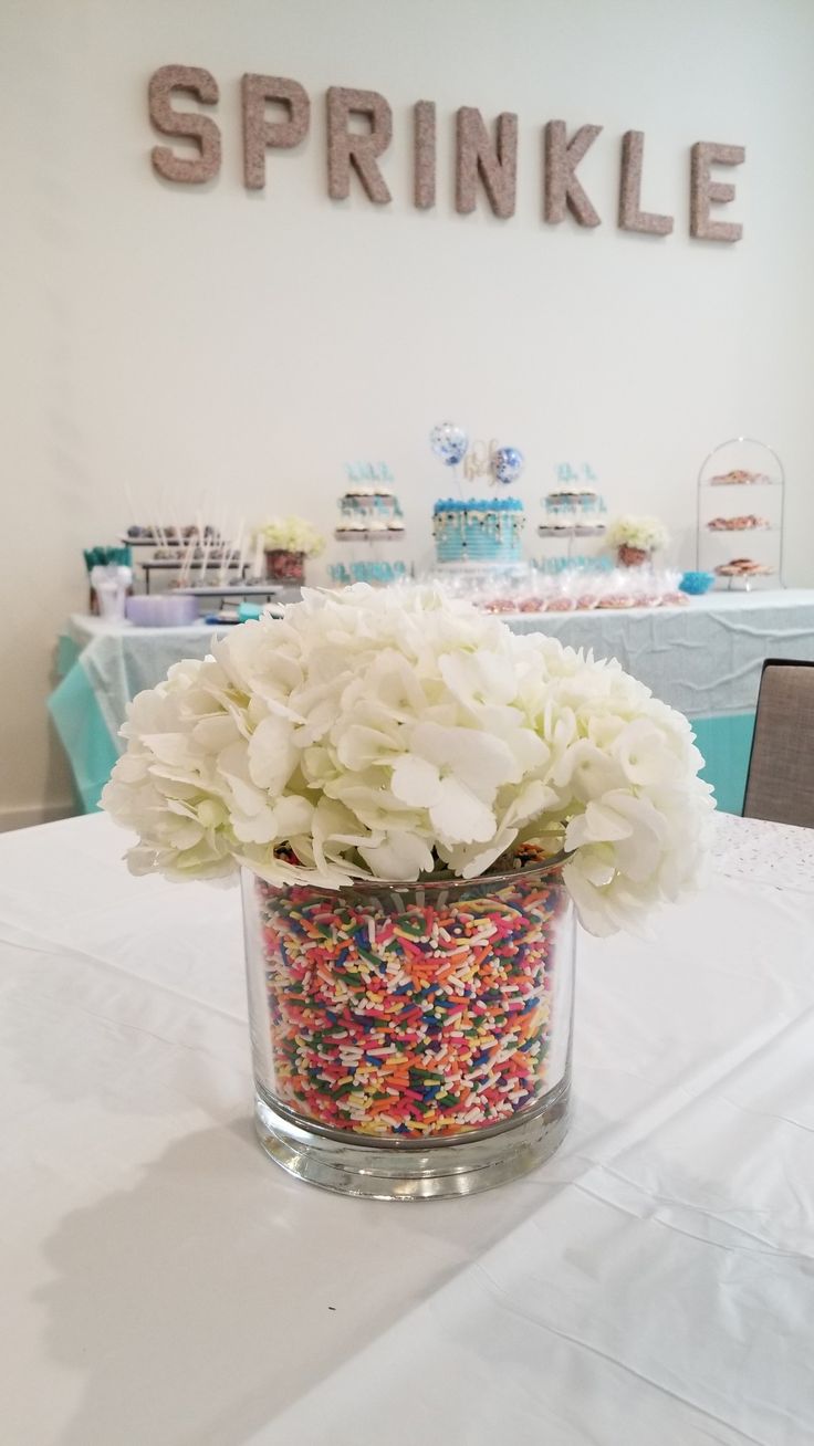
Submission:
[[568,1121],[575,924],[561,860],[473,881],[276,888],[243,872],[263,1148],[343,1194],[470,1194]]

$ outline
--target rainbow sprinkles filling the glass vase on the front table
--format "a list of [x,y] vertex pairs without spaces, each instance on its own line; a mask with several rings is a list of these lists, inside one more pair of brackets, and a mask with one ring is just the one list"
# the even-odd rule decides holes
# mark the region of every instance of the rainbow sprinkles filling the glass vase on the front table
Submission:
[[561,1083],[573,915],[539,862],[395,898],[247,881],[269,1099],[330,1129],[421,1139],[500,1125]]

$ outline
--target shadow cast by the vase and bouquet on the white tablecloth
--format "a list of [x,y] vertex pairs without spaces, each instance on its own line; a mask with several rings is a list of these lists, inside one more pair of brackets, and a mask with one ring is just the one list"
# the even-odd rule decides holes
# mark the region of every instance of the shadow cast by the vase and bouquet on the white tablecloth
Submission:
[[84,1375],[61,1446],[239,1446],[577,1168],[567,1152],[510,1190],[403,1206],[289,1178],[249,1119],[179,1139],[45,1245],[46,1345]]

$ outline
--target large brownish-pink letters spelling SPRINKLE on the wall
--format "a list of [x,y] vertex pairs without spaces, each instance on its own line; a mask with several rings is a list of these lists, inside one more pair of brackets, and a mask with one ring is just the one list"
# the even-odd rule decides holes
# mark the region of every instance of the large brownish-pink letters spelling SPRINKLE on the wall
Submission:
[[[162,65],[149,82],[150,120],[162,136],[194,142],[197,153],[178,155],[171,146],[153,146],[153,169],[165,181],[201,185],[221,168],[221,132],[213,116],[184,111],[175,95],[194,97],[200,106],[217,106],[220,87],[211,71],[194,65]],[[276,119],[267,107],[275,106]],[[266,187],[267,153],[299,146],[311,130],[311,100],[299,81],[278,75],[244,75],[241,81],[243,184],[249,191]],[[567,215],[583,227],[601,224],[587,195],[578,166],[601,126],[584,124],[568,130],[564,120],[549,120],[542,130],[542,215],[560,226]],[[393,113],[379,91],[331,85],[325,106],[327,189],[344,201],[359,185],[374,205],[389,205],[390,188],[379,165],[390,146]],[[412,204],[418,210],[435,205],[437,116],[435,103],[419,100],[412,107]],[[690,236],[706,241],[739,241],[739,221],[713,217],[713,205],[734,200],[734,185],[713,179],[713,166],[739,166],[743,146],[698,140],[690,153]],[[627,130],[622,136],[617,226],[645,236],[669,236],[671,215],[645,210],[642,171],[645,134]],[[476,210],[483,194],[493,214],[509,220],[515,214],[518,179],[518,116],[503,111],[490,126],[480,110],[461,106],[455,113],[455,194],[461,215]]]

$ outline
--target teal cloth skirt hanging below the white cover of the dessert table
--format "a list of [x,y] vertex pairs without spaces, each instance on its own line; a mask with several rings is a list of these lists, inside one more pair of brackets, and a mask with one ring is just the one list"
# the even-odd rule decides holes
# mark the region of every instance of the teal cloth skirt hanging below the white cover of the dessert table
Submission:
[[[62,638],[59,672],[64,677],[51,694],[48,707],[71,762],[82,807],[85,813],[93,813],[121,746],[110,732],[97,694],[84,668],[78,665],[78,656],[80,648],[69,638]],[[691,722],[706,761],[703,777],[713,785],[719,808],[739,814],[743,808],[755,714],[736,713]]]

